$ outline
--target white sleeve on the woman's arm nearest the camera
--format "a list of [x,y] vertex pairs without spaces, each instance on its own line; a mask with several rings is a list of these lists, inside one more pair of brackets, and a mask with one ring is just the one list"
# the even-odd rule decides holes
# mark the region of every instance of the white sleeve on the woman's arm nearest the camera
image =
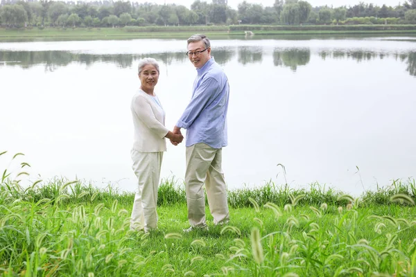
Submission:
[[157,120],[153,114],[152,107],[148,100],[142,96],[137,96],[132,102],[133,110],[139,119],[150,129],[151,132],[157,134],[159,138],[164,138],[169,130]]

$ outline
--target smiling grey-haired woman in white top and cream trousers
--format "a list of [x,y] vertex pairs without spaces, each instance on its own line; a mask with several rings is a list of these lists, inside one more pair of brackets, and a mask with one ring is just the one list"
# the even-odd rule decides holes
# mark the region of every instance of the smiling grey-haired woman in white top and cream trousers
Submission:
[[163,152],[166,151],[165,138],[181,143],[183,136],[173,134],[164,126],[165,112],[155,94],[159,79],[159,64],[147,57],[139,62],[141,86],[133,96],[131,110],[135,136],[131,150],[138,190],[135,195],[130,229],[157,229],[157,187]]

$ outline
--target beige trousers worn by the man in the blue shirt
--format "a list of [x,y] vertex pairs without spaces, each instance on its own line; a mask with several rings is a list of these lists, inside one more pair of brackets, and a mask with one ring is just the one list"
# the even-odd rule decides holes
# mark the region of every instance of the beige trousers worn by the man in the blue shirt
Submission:
[[211,148],[205,143],[187,147],[185,187],[188,220],[191,226],[205,226],[205,190],[214,224],[229,221],[227,186],[221,169],[222,148]]

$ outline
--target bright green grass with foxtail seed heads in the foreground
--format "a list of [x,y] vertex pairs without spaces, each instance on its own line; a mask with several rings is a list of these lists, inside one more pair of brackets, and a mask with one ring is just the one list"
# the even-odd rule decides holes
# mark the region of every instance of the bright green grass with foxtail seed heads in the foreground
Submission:
[[[25,168],[26,163],[21,163]],[[183,186],[159,187],[159,230],[130,231],[134,195],[63,179],[0,184],[2,276],[415,276],[414,180],[354,199],[319,185],[229,192],[231,222],[183,233]]]

